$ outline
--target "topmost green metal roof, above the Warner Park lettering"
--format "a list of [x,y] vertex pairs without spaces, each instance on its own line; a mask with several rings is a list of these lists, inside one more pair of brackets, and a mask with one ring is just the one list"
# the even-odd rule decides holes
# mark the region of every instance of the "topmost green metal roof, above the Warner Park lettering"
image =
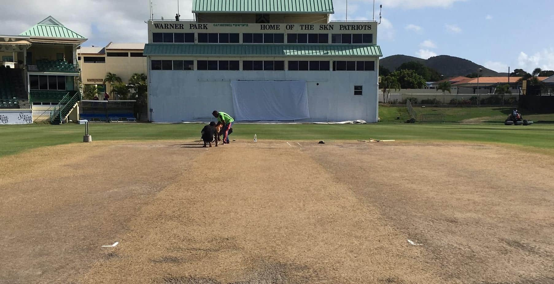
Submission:
[[332,0],[193,0],[193,13],[324,13]]

